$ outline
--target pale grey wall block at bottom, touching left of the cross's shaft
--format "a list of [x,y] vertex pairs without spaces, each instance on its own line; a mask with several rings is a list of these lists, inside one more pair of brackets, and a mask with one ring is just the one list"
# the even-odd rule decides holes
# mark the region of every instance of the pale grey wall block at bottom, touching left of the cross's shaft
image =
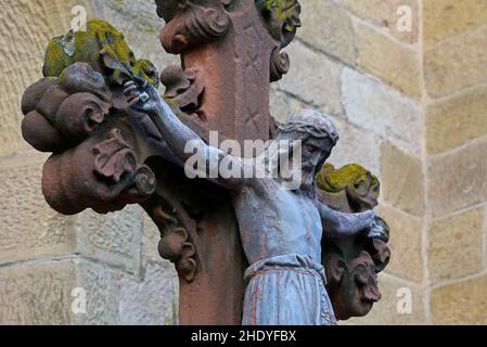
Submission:
[[178,323],[178,277],[167,261],[150,262],[141,282],[120,282],[120,323],[170,325]]

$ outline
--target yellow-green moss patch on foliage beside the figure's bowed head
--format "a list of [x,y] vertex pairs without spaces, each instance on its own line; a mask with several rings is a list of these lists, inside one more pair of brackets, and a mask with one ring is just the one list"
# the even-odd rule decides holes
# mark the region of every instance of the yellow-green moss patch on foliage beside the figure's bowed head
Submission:
[[325,164],[316,177],[318,187],[329,193],[341,192],[349,184],[368,179],[379,181],[375,176],[358,164],[349,164],[341,169],[335,169],[333,165]]

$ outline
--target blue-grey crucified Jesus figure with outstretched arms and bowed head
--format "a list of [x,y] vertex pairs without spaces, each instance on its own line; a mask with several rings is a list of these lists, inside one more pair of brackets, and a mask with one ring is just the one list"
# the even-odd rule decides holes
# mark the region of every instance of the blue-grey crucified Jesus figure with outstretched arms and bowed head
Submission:
[[[137,79],[125,85],[131,107],[146,113],[172,152],[183,162],[193,153],[191,141],[217,164],[229,155],[208,146],[183,125],[150,83]],[[148,98],[149,95],[149,98]],[[142,98],[141,98],[142,97]],[[320,203],[316,172],[329,158],[338,134],[332,120],[313,111],[290,116],[280,127],[277,141],[299,141],[302,181],[290,190],[282,178],[222,178],[231,190],[245,256],[244,325],[331,325],[336,323],[325,290],[321,265],[322,237],[343,237],[374,227],[375,213],[343,214]],[[233,157],[245,166],[247,160]],[[213,164],[215,165],[215,164]],[[212,168],[209,168],[212,169]]]

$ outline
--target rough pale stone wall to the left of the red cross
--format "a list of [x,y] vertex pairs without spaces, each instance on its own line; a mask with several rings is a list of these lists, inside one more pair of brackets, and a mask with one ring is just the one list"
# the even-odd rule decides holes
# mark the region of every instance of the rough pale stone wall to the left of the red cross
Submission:
[[[138,206],[65,217],[40,187],[47,156],[20,132],[23,90],[41,77],[48,40],[67,33],[72,8],[106,18],[138,56],[163,66],[155,5],[141,1],[7,0],[0,18],[0,324],[174,324],[178,280],[157,254],[158,231]],[[85,288],[87,313],[72,310]]]

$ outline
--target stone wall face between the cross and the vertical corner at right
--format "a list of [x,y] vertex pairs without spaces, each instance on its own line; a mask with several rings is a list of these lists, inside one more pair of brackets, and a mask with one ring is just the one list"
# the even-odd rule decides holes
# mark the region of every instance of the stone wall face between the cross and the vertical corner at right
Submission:
[[[303,4],[303,28],[289,49],[292,69],[273,88],[273,112],[283,119],[290,108],[311,106],[332,115],[341,140],[330,162],[359,163],[381,178],[379,211],[392,230],[392,261],[380,275],[383,298],[367,318],[345,323],[425,324],[420,5],[415,0]],[[400,4],[411,9],[411,31],[396,28]],[[411,307],[398,311],[405,295]]]

